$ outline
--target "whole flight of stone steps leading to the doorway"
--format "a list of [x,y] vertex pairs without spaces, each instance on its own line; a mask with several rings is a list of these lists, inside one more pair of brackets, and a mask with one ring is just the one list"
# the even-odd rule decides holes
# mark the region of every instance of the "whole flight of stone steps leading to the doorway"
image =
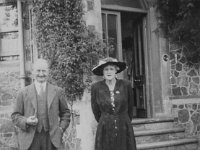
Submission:
[[138,150],[198,150],[198,139],[187,137],[173,118],[134,119]]

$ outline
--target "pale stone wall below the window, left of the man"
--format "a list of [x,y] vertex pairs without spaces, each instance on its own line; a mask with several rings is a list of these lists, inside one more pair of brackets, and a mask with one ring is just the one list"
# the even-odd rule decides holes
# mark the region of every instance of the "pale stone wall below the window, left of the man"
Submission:
[[1,61],[0,68],[0,149],[14,150],[17,147],[17,138],[10,113],[20,88],[19,61]]

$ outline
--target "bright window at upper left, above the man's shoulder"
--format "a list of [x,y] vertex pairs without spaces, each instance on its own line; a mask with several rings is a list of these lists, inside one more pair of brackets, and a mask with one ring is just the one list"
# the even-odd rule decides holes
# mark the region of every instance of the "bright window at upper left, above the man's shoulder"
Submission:
[[0,13],[0,58],[18,59],[17,9],[13,5],[2,5]]

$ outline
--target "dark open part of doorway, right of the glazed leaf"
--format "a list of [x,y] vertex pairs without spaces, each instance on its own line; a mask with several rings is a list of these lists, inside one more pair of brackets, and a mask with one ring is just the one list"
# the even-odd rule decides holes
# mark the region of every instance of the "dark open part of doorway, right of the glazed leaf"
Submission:
[[121,12],[123,60],[128,69],[125,78],[132,82],[134,91],[134,115],[147,117],[145,49],[147,45],[146,15],[143,13]]

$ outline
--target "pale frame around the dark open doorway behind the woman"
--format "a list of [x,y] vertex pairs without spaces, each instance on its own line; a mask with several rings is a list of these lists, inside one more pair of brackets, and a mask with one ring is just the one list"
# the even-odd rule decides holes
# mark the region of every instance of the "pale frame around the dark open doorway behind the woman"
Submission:
[[[133,12],[133,13],[142,13],[145,16],[143,17],[143,33],[144,35],[144,63],[145,63],[145,100],[146,100],[146,105],[147,105],[147,118],[152,118],[155,116],[155,111],[154,111],[154,100],[153,100],[153,92],[152,92],[152,79],[151,79],[151,58],[150,58],[150,42],[151,42],[151,32],[150,32],[150,17],[149,17],[149,11],[145,9],[138,9],[138,8],[130,8],[130,7],[120,7],[120,6],[113,6],[113,5],[103,5],[101,7],[102,11],[109,11],[109,12],[117,12],[120,14],[120,11],[125,11],[125,12]],[[121,21],[121,15],[120,15],[120,20]],[[121,22],[119,23],[120,25],[120,35],[121,33]],[[121,39],[121,38],[120,38]],[[121,41],[122,43],[122,41]],[[122,46],[122,44],[121,44]],[[121,53],[122,53],[122,47],[121,47]],[[123,54],[121,54],[122,57]],[[123,57],[122,57],[123,58]],[[122,58],[120,60],[122,60]]]

